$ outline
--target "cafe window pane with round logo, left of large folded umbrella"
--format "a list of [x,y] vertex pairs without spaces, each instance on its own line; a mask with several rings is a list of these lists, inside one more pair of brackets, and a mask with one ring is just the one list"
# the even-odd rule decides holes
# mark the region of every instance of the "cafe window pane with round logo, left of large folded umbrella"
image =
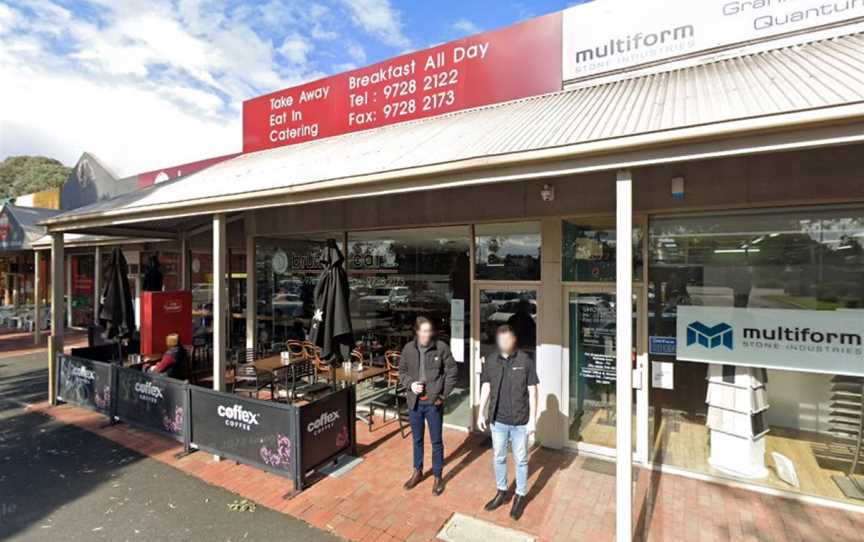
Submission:
[[342,247],[341,233],[257,240],[259,344],[302,340],[309,332],[327,239],[336,239]]

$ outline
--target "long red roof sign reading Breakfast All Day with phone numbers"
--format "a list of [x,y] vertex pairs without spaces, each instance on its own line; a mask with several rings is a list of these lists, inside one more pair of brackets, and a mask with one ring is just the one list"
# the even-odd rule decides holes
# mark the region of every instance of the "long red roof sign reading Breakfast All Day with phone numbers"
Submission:
[[561,90],[553,13],[243,103],[243,152]]

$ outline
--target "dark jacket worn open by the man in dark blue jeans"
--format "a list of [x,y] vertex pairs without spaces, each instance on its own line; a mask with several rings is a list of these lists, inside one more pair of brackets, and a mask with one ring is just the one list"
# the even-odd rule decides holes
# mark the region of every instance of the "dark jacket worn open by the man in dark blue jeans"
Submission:
[[434,347],[426,353],[426,375],[420,376],[420,351],[417,343],[409,342],[402,349],[402,359],[399,360],[399,384],[405,389],[408,408],[417,405],[417,395],[411,391],[414,382],[426,382],[426,395],[430,399],[444,400],[456,387],[459,367],[450,347],[444,341],[435,341]]

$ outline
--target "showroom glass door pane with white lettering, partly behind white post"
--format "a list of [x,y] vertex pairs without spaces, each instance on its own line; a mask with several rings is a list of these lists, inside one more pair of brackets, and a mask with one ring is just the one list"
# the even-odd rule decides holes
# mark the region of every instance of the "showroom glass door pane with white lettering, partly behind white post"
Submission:
[[[639,314],[641,289],[634,289],[633,363],[637,368],[636,345],[640,344]],[[568,288],[566,313],[566,387],[568,400],[567,438],[586,451],[614,454],[616,440],[616,297],[613,286]],[[640,445],[637,420],[646,409],[642,398],[641,373],[634,374],[634,446]]]

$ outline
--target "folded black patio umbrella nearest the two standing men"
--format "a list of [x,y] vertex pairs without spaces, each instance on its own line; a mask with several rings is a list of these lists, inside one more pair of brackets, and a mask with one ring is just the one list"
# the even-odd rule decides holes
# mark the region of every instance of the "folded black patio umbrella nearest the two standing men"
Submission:
[[354,345],[351,327],[350,290],[345,273],[345,258],[333,239],[321,260],[324,271],[315,286],[315,315],[312,318],[311,340],[321,347],[321,358],[347,359]]

